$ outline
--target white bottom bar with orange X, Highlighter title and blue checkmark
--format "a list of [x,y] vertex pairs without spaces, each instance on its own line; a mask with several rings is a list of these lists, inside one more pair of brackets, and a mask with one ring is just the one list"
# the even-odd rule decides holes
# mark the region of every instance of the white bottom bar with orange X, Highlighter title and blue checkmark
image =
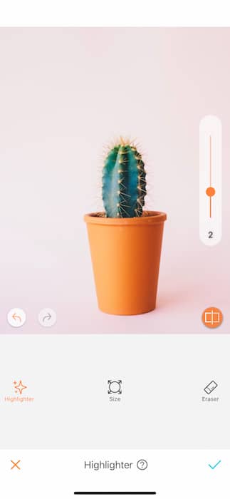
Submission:
[[229,499],[230,450],[0,451],[4,499]]

